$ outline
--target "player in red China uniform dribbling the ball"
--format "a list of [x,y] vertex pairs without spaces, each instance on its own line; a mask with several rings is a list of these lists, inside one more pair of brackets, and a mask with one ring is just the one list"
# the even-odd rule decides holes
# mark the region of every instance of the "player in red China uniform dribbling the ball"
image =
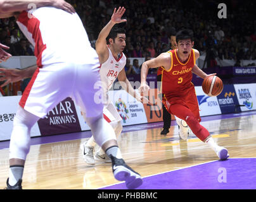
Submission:
[[192,73],[205,78],[215,74],[206,74],[196,65],[200,56],[198,50],[193,49],[193,37],[189,30],[181,30],[176,35],[177,49],[160,54],[160,56],[143,62],[141,67],[141,86],[139,92],[148,92],[146,84],[149,68],[161,67],[163,105],[169,113],[186,121],[193,133],[207,143],[217,156],[224,160],[229,157],[227,149],[218,146],[210,133],[201,124],[195,86],[191,83]]

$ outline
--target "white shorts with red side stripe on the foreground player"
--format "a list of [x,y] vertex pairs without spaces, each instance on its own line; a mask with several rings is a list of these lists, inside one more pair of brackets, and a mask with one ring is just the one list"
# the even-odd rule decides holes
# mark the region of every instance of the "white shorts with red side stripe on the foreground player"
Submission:
[[96,117],[103,113],[103,103],[94,101],[95,93],[101,92],[95,83],[101,83],[98,60],[94,64],[49,64],[37,68],[23,92],[20,106],[42,118],[62,100],[71,97],[87,117]]

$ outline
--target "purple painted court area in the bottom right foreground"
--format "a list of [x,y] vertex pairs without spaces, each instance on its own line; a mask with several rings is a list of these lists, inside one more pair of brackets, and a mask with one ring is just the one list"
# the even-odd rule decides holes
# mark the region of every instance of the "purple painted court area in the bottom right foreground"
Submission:
[[[138,189],[256,189],[256,158],[216,160],[143,177]],[[101,189],[127,189],[125,183]]]

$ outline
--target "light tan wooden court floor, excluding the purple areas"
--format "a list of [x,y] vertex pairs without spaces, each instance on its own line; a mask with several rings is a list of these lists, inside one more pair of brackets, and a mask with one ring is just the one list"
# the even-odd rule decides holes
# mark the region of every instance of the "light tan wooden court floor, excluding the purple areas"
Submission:
[[[229,150],[230,158],[256,157],[256,113],[203,121],[214,140]],[[174,125],[174,124],[172,124]],[[134,126],[136,128],[136,126]],[[194,134],[179,139],[177,126],[167,136],[162,128],[122,133],[118,144],[125,162],[142,177],[218,160]],[[98,189],[118,183],[110,163],[87,165],[82,159],[82,140],[32,145],[25,164],[23,189]],[[9,149],[0,150],[0,189],[6,186]]]

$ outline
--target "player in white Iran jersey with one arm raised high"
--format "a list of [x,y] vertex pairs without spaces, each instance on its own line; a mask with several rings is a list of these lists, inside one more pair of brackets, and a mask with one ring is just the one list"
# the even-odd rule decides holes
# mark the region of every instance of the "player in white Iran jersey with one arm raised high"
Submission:
[[[106,121],[110,122],[110,125],[112,125],[115,130],[117,138],[122,132],[122,119],[115,105],[108,99],[107,95],[108,91],[113,86],[113,82],[118,78],[121,86],[132,95],[132,97],[136,98],[139,102],[142,102],[143,99],[147,102],[146,98],[141,97],[141,95],[134,91],[134,88],[131,86],[129,80],[127,80],[125,74],[124,66],[126,64],[126,57],[123,54],[126,45],[125,30],[114,27],[117,23],[126,21],[121,19],[124,12],[124,7],[115,8],[111,20],[101,30],[96,40],[96,52],[98,53],[99,62],[101,63],[99,74],[103,83],[103,90],[106,93],[106,104],[103,108],[103,114]],[[94,146],[96,146],[96,142],[93,136],[80,146],[85,162],[91,165],[95,164],[95,160],[98,162],[110,162],[110,159],[101,148],[93,155]]]

